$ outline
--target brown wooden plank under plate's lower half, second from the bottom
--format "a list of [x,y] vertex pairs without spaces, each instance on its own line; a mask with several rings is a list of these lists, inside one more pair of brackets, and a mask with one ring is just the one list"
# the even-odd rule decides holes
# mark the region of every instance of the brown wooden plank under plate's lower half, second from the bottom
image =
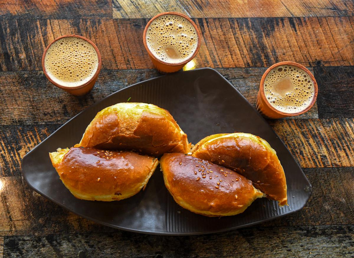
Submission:
[[[304,172],[313,187],[307,205],[301,211],[261,226],[352,224],[353,182],[348,178],[354,177],[354,168],[306,168]],[[2,236],[116,231],[64,210],[35,193],[21,176],[1,177],[0,181]],[[59,177],[58,183],[61,184]]]

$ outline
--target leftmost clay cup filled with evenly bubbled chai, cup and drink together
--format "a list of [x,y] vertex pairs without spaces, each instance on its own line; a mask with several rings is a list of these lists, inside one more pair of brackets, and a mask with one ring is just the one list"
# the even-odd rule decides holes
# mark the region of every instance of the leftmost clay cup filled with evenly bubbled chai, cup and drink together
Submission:
[[101,70],[101,55],[90,40],[78,35],[65,35],[46,48],[42,66],[52,84],[80,96],[95,85]]

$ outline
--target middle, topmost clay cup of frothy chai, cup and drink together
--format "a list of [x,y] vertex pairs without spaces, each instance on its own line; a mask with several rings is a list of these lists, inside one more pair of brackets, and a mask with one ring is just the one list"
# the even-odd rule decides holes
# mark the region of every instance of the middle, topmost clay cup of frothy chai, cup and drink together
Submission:
[[172,73],[182,69],[198,53],[200,33],[189,17],[165,12],[148,22],[143,41],[156,69]]

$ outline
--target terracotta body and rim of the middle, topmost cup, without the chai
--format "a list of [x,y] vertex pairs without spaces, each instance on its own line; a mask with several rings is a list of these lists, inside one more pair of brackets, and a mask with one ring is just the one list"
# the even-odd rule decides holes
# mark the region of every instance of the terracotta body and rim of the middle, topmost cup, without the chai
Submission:
[[[181,63],[177,63],[177,64],[171,64],[171,63],[166,63],[164,61],[161,61],[160,59],[156,58],[151,51],[148,48],[148,45],[146,44],[146,31],[149,28],[150,24],[154,21],[154,19],[156,19],[157,17],[160,17],[162,15],[178,15],[181,16],[185,19],[187,19],[190,23],[192,23],[193,27],[195,28],[195,31],[197,33],[198,36],[198,43],[197,43],[197,47],[193,53],[193,55],[186,61],[181,62]],[[179,12],[163,12],[163,13],[159,13],[158,15],[156,15],[155,17],[153,17],[148,24],[146,24],[145,29],[144,29],[144,34],[143,34],[143,41],[144,41],[144,47],[146,49],[146,51],[148,52],[151,60],[153,61],[156,69],[158,69],[158,71],[160,71],[161,73],[173,73],[175,71],[181,70],[182,67],[184,67],[185,64],[187,64],[189,61],[191,61],[195,55],[198,53],[199,47],[200,47],[200,32],[197,28],[197,26],[195,25],[195,23],[187,16],[185,16],[182,13]]]

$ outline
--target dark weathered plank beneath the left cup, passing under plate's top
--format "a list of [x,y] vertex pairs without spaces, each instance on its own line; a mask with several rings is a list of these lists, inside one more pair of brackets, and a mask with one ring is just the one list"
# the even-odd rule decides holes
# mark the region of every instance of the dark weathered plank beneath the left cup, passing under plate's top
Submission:
[[[312,68],[310,68],[312,70]],[[265,68],[217,69],[255,106]],[[102,70],[92,92],[76,98],[53,86],[42,71],[0,73],[0,124],[64,123],[83,109],[128,85],[158,76],[151,70]],[[317,118],[317,105],[298,118]],[[354,117],[354,116],[353,116]]]

